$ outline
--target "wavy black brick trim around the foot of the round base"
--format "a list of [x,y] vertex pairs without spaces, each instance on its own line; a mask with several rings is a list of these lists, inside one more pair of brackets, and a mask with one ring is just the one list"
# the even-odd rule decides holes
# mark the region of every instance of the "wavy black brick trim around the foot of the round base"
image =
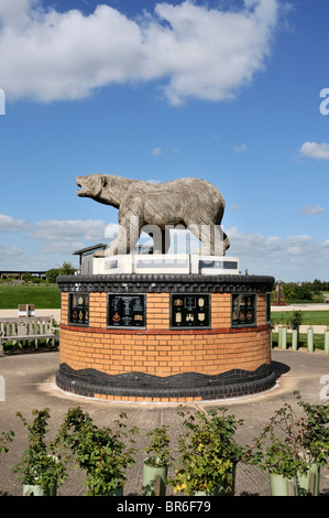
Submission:
[[144,373],[110,376],[95,369],[74,370],[67,364],[62,364],[56,374],[56,384],[61,389],[91,398],[105,395],[152,399],[223,399],[263,392],[275,385],[275,379],[268,365],[254,371],[233,369],[216,376],[183,373],[163,378]]

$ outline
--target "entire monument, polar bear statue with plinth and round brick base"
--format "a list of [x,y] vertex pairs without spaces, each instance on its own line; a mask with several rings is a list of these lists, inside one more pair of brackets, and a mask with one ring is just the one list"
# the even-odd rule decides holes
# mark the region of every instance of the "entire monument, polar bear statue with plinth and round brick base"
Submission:
[[[272,277],[241,276],[224,257],[224,199],[211,184],[164,184],[95,174],[78,195],[119,209],[109,246],[80,253],[80,274],[62,292],[57,386],[114,401],[187,402],[268,390]],[[169,253],[176,226],[198,237],[198,253]],[[141,233],[153,253],[135,253]],[[200,252],[202,255],[200,255]]]

